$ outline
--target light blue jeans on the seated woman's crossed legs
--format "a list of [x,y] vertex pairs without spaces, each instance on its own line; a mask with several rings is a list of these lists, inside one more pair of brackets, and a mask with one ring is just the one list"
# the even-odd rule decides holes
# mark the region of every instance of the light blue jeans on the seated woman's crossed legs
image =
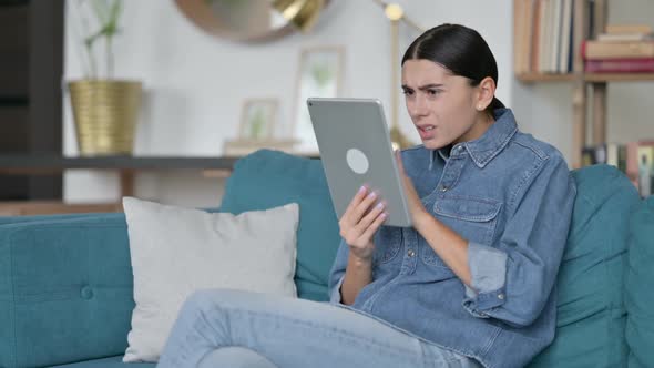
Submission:
[[203,290],[180,311],[159,368],[480,367],[474,360],[334,305]]

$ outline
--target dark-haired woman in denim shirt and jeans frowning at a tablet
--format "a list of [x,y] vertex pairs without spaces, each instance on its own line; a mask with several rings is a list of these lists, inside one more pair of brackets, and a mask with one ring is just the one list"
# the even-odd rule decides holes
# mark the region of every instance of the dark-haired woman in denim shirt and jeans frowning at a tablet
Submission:
[[398,154],[413,228],[361,187],[339,221],[331,304],[195,294],[160,367],[522,367],[554,337],[575,195],[561,154],[494,98],[495,60],[462,25],[402,58],[422,145]]

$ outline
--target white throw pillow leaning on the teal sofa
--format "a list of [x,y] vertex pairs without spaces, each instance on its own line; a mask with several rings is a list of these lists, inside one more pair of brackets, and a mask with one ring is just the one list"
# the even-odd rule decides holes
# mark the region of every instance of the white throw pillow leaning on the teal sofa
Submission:
[[156,361],[184,300],[196,289],[296,297],[298,205],[206,213],[123,198],[134,301],[123,361]]

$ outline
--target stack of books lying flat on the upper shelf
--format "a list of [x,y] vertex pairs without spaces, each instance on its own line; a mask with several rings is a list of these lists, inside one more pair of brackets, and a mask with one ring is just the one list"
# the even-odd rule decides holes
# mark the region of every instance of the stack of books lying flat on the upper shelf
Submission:
[[606,25],[583,43],[586,73],[654,73],[654,33],[640,24]]

